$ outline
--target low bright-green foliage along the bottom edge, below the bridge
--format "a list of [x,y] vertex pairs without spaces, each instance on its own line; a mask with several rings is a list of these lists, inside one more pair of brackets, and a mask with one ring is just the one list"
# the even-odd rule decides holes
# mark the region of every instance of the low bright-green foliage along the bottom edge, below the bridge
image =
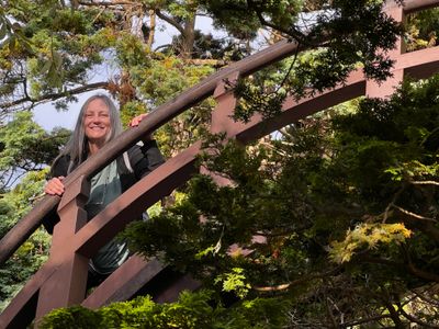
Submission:
[[215,303],[212,292],[183,292],[172,304],[155,304],[147,296],[95,311],[60,308],[45,316],[38,328],[279,328],[284,309],[274,305],[274,299],[257,298],[229,311]]

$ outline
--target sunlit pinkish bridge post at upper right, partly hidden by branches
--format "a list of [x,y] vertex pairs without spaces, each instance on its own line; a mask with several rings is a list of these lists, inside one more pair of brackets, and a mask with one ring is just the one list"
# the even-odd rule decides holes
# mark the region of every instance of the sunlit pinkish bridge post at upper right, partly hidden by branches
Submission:
[[[405,13],[404,13],[404,8],[402,5],[398,5],[392,0],[386,3],[386,7],[384,9],[387,15],[393,18],[395,21],[404,22]],[[395,48],[389,52],[389,56],[392,59],[397,60],[401,54],[404,53],[405,53],[405,43],[401,37],[398,37],[395,44]],[[397,63],[395,63],[394,67],[397,67]],[[379,83],[373,80],[368,80],[365,82],[365,95],[368,98],[380,98],[380,99],[389,98],[392,93],[395,92],[395,89],[403,81],[404,69],[403,68],[394,69],[392,70],[392,75],[393,76],[387,78],[387,80]]]

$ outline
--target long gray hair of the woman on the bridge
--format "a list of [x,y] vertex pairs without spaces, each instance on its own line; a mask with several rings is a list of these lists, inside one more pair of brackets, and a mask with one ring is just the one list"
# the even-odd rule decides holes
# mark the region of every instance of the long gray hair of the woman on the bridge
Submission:
[[86,136],[86,129],[83,127],[83,120],[86,117],[86,111],[90,102],[98,99],[105,103],[110,114],[110,134],[108,134],[105,137],[105,144],[114,139],[117,135],[122,133],[121,117],[113,101],[108,95],[101,93],[90,97],[83,103],[81,111],[78,114],[78,120],[76,122],[75,131],[71,134],[69,141],[67,143],[66,147],[61,150],[59,156],[54,160],[55,164],[63,156],[69,156],[70,162],[67,173],[70,173],[74,167],[80,164],[87,159],[89,149],[88,149],[88,139]]

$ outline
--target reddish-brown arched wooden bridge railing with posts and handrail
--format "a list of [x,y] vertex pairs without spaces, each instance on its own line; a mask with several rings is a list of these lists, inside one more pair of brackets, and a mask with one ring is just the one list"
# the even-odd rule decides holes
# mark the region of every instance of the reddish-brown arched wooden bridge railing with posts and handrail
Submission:
[[[403,21],[407,13],[437,5],[438,0],[406,0],[404,7],[389,2],[385,10],[395,20]],[[233,92],[226,89],[225,81],[248,76],[294,54],[296,48],[294,43],[280,42],[212,75],[159,106],[137,128],[123,133],[69,174],[65,180],[66,192],[63,197],[46,196],[22,218],[0,241],[0,264],[35,231],[44,216],[59,204],[60,223],[54,230],[50,257],[0,315],[0,328],[24,328],[32,319],[42,317],[53,308],[74,304],[97,308],[111,302],[128,299],[157,277],[166,277],[166,284],[157,284],[149,291],[158,302],[175,299],[182,288],[198,287],[198,283],[189,276],[172,276],[157,260],[146,261],[133,256],[85,299],[90,257],[121,231],[130,218],[135,218],[145,207],[169,194],[199,170],[194,162],[201,151],[201,141],[169,159],[137,182],[89,223],[83,211],[90,190],[87,179],[128,149],[142,136],[154,132],[192,105],[213,95],[217,105],[212,113],[212,133],[225,132],[228,138],[248,143],[340,102],[360,95],[389,95],[404,75],[427,78],[439,71],[439,47],[404,53],[399,42],[391,54],[396,60],[393,78],[381,86],[365,80],[360,71],[354,71],[346,84],[334,90],[299,102],[289,98],[283,104],[282,113],[274,118],[262,121],[255,116],[247,124],[233,122],[230,114],[237,100]]]

